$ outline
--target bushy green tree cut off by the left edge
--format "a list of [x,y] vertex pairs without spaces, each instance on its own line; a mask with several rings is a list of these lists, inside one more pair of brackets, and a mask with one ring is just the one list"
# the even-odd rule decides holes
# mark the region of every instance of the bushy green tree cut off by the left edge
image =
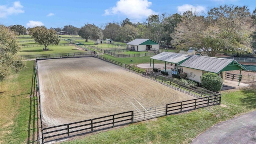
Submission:
[[16,57],[20,49],[14,31],[0,25],[0,81],[6,79],[11,70],[18,72],[25,66],[24,61]]

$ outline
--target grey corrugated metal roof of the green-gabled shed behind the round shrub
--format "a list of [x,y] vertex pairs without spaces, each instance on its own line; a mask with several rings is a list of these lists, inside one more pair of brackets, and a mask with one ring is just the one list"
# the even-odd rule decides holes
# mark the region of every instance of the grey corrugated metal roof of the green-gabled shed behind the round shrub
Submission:
[[180,64],[187,68],[194,68],[197,70],[204,70],[207,72],[218,73],[226,66],[228,66],[233,60],[226,58],[214,58],[208,56],[191,56],[188,60]]

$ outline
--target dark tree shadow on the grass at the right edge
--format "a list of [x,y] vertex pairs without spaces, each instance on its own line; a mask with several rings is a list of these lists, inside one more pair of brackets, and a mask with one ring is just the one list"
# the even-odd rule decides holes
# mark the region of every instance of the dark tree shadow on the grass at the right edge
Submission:
[[256,84],[242,90],[244,97],[240,98],[243,106],[247,108],[256,108]]

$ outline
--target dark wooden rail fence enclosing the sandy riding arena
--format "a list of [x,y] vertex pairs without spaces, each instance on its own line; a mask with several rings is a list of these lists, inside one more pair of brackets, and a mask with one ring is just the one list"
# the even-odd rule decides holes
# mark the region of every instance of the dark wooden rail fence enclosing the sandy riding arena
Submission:
[[[121,62],[104,58],[96,54],[94,55],[94,57],[122,67]],[[37,59],[36,59],[36,63],[37,63]],[[81,134],[88,134],[88,133],[92,133],[100,130],[106,130],[108,128],[114,128],[115,126],[131,124],[134,122],[139,122],[139,121],[147,120],[151,118],[157,118],[160,116],[167,116],[170,114],[177,114],[180,112],[195,110],[197,108],[213,106],[213,105],[220,104],[221,102],[221,94],[218,94],[216,92],[205,90],[203,88],[199,88],[189,84],[183,84],[182,82],[178,82],[178,80],[174,80],[171,78],[162,78],[162,77],[158,77],[150,74],[148,75],[145,72],[134,69],[131,66],[126,64],[125,64],[125,68],[129,71],[141,74],[144,77],[148,77],[152,80],[156,80],[166,86],[169,86],[169,87],[171,86],[176,90],[186,92],[187,94],[189,94],[189,92],[196,93],[198,95],[195,95],[192,93],[191,95],[198,96],[199,98],[195,98],[193,100],[186,100],[182,102],[174,102],[174,103],[170,103],[162,106],[153,106],[153,107],[144,108],[141,110],[134,110],[134,111],[122,112],[118,114],[112,114],[109,116],[83,120],[80,122],[73,122],[69,124],[51,126],[47,128],[43,127],[42,115],[40,115],[42,143],[51,142],[51,141],[59,140],[63,138],[70,138],[70,137],[78,136]],[[37,70],[37,68],[35,68],[35,70]],[[38,78],[38,74],[35,73],[35,75]],[[39,88],[38,81],[37,81],[37,84],[38,84],[38,88],[36,90],[39,93],[39,106],[41,106],[40,92],[39,92],[40,88]],[[40,108],[40,113],[41,112],[42,112],[42,109]]]

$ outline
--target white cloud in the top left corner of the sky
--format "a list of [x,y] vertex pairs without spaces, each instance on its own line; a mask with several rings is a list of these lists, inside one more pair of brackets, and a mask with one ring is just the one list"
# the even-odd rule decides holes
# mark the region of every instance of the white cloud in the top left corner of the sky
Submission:
[[19,1],[13,3],[13,6],[0,5],[0,18],[6,18],[12,14],[24,13],[23,6]]

